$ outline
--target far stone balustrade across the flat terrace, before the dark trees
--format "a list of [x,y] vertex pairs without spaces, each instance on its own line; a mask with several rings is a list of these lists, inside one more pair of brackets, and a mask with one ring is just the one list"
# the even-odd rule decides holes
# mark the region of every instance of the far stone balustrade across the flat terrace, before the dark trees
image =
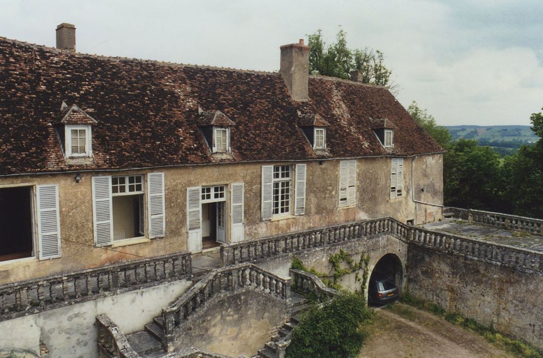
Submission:
[[504,229],[515,229],[529,233],[543,234],[543,220],[539,219],[453,207],[444,208],[443,214],[452,214],[453,218],[468,220],[469,222],[478,222]]

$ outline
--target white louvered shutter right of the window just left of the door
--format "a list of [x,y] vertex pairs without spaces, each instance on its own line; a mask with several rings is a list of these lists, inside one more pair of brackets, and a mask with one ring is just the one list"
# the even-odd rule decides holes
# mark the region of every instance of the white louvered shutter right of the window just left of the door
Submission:
[[162,238],[166,233],[163,172],[147,175],[147,193],[149,195],[149,238]]

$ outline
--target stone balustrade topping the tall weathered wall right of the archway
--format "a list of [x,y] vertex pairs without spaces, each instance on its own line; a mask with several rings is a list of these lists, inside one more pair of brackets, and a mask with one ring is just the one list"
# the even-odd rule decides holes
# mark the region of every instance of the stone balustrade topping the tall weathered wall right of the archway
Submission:
[[409,241],[445,253],[459,254],[517,270],[543,273],[543,253],[412,227]]

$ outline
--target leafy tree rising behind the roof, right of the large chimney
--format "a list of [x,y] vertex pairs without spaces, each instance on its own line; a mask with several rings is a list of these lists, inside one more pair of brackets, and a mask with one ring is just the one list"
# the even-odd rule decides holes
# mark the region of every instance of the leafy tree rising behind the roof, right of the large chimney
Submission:
[[336,42],[326,45],[319,29],[308,36],[309,70],[312,74],[351,79],[356,75],[367,84],[387,86],[396,94],[397,86],[390,82],[392,70],[384,66],[384,54],[369,48],[351,50],[347,46],[347,33],[340,28]]

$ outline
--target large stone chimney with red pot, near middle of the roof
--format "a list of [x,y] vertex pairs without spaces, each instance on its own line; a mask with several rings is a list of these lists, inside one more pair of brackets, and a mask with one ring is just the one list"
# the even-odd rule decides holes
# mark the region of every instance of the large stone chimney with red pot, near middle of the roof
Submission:
[[309,81],[309,46],[304,44],[304,39],[299,43],[291,43],[281,46],[281,68],[279,69],[285,80],[292,99],[307,101]]

